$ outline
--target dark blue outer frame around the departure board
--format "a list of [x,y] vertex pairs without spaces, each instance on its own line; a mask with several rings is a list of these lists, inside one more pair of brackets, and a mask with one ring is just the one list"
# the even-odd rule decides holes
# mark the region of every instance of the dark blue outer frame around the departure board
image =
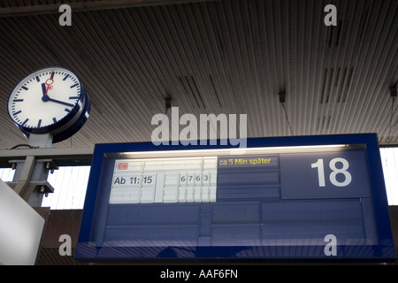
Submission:
[[[282,245],[267,246],[259,249],[253,246],[217,246],[204,245],[195,249],[195,253],[179,253],[173,247],[161,247],[156,249],[156,254],[148,254],[148,248],[158,247],[105,247],[98,245],[94,239],[97,229],[103,229],[106,216],[100,215],[99,210],[108,210],[108,199],[102,197],[102,182],[104,176],[112,174],[114,159],[110,154],[139,151],[165,151],[165,150],[194,150],[194,149],[231,149],[231,145],[159,145],[151,142],[111,143],[97,144],[88,180],[88,190],[80,225],[80,235],[75,253],[75,258],[86,262],[111,262],[111,261],[187,261],[187,260],[260,260],[260,261],[375,261],[387,262],[395,260],[394,239],[392,236],[390,218],[388,214],[387,195],[385,182],[379,155],[379,143],[377,134],[336,134],[336,135],[312,135],[292,137],[252,138],[247,141],[247,148],[262,147],[300,147],[322,145],[364,145],[364,152],[369,169],[369,181],[371,187],[371,206],[373,210],[371,218],[379,241],[376,244],[363,245],[339,245],[337,242],[337,255],[325,256],[325,245]],[[236,148],[236,147],[235,147]],[[108,157],[106,157],[108,156]],[[111,161],[110,161],[111,160]],[[109,178],[109,177],[107,177]],[[349,200],[352,198],[345,198]],[[311,200],[311,202],[317,200]],[[365,203],[365,202],[364,202]],[[369,203],[369,202],[368,202]],[[371,207],[368,205],[368,207]],[[200,210],[209,210],[209,206],[203,205]],[[250,228],[250,227],[249,227]],[[248,229],[249,229],[248,228]],[[261,245],[260,245],[261,246]],[[187,247],[192,250],[192,247]],[[105,250],[107,249],[107,250]],[[237,252],[238,251],[238,252]],[[241,252],[243,251],[243,252]],[[241,252],[241,253],[239,253]],[[147,254],[146,254],[147,253]],[[149,256],[142,256],[142,255]],[[239,254],[239,256],[237,256]],[[135,256],[134,256],[135,255]],[[154,256],[155,255],[155,256]]]

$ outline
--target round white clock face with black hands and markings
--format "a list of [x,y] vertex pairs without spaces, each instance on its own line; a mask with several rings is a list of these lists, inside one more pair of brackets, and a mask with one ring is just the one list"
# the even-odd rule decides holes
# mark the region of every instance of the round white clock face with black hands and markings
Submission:
[[46,133],[73,117],[82,104],[78,77],[62,67],[47,67],[30,73],[12,90],[8,113],[21,128]]

